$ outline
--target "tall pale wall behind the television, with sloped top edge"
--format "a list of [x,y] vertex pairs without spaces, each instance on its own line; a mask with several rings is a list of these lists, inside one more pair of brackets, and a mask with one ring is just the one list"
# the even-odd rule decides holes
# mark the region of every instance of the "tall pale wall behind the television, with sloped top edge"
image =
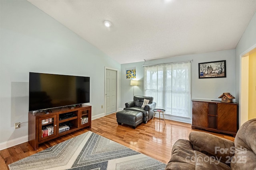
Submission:
[[28,123],[14,123],[28,121],[29,72],[90,76],[92,117],[104,113],[104,68],[119,63],[25,0],[0,12],[0,150],[27,141]]

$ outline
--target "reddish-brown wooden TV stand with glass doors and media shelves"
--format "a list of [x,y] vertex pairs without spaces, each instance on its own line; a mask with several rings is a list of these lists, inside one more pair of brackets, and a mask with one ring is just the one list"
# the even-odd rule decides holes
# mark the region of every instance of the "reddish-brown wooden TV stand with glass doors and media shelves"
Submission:
[[82,107],[55,108],[50,113],[28,112],[28,143],[36,150],[40,143],[78,129],[91,128],[91,109],[92,106],[82,105]]

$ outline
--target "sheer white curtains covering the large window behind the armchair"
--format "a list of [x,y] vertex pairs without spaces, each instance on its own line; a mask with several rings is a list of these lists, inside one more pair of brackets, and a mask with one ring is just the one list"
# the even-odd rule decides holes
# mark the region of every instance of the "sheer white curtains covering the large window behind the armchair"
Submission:
[[190,114],[190,61],[144,66],[144,95],[154,97],[165,114]]

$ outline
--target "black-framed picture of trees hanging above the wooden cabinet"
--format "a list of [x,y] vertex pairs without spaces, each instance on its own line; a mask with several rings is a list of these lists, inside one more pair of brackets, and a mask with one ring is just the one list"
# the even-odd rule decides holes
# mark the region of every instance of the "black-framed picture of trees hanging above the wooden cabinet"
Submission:
[[199,78],[226,77],[226,60],[198,63]]

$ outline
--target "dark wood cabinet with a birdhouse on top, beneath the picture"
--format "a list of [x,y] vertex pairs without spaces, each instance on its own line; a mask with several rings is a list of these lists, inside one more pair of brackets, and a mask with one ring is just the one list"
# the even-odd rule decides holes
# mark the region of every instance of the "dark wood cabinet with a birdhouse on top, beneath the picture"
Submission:
[[192,129],[204,129],[236,136],[238,104],[212,100],[192,100]]

